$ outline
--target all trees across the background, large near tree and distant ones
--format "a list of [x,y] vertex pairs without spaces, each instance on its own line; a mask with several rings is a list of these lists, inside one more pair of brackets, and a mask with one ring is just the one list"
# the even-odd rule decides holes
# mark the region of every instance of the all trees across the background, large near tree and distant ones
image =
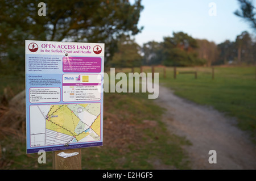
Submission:
[[[143,31],[141,0],[45,0],[46,16],[39,16],[39,2],[0,1],[0,74],[24,73],[24,40],[105,43],[107,66],[255,64],[255,39],[246,31],[217,45],[173,32],[140,47],[131,37]],[[249,0],[238,2],[234,14],[256,30],[255,7]]]

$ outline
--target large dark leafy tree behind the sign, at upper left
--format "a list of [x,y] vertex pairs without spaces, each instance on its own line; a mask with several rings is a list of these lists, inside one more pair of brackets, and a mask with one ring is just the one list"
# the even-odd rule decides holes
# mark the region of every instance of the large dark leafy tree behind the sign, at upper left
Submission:
[[0,74],[24,73],[25,40],[105,43],[111,59],[121,35],[137,35],[141,0],[44,0],[46,16],[39,16],[39,0],[0,1]]

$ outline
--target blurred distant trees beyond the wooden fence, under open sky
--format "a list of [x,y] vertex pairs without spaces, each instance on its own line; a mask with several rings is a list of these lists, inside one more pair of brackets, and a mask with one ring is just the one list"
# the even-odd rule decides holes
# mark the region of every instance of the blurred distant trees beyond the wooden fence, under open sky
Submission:
[[149,41],[140,47],[134,39],[122,36],[110,66],[140,65],[212,66],[223,64],[256,64],[256,41],[247,31],[235,41],[215,44],[206,39],[194,39],[184,32],[173,32],[162,42]]

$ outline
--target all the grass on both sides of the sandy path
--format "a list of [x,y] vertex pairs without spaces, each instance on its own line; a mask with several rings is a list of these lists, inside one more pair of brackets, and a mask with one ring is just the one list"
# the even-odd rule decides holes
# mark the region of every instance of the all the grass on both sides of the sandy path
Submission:
[[[129,72],[130,69],[120,71]],[[140,71],[135,68],[135,71]],[[199,104],[212,106],[236,117],[238,127],[255,138],[256,81],[255,68],[155,68],[161,85],[175,90],[175,94]],[[151,68],[144,68],[151,71]],[[197,71],[180,74],[181,71]],[[24,89],[22,79],[9,82],[2,78],[3,87],[18,91]],[[147,99],[147,93],[104,94],[104,146],[82,149],[82,169],[189,169],[188,155],[183,145],[190,143],[170,134],[162,122],[164,110]],[[24,134],[23,134],[24,135]],[[255,141],[255,140],[254,140]],[[39,164],[38,154],[26,154],[26,137],[1,136],[0,169],[51,169],[52,154],[47,153],[47,163]]]

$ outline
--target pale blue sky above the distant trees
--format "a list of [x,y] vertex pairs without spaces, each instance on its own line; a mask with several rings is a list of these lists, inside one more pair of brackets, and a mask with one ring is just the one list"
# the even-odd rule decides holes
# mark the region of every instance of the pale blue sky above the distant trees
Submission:
[[[256,0],[253,3],[256,6]],[[134,36],[141,46],[148,41],[163,41],[163,37],[179,31],[216,44],[235,41],[243,31],[255,37],[249,23],[234,15],[240,9],[237,0],[142,0],[142,5],[138,27],[144,28]]]

